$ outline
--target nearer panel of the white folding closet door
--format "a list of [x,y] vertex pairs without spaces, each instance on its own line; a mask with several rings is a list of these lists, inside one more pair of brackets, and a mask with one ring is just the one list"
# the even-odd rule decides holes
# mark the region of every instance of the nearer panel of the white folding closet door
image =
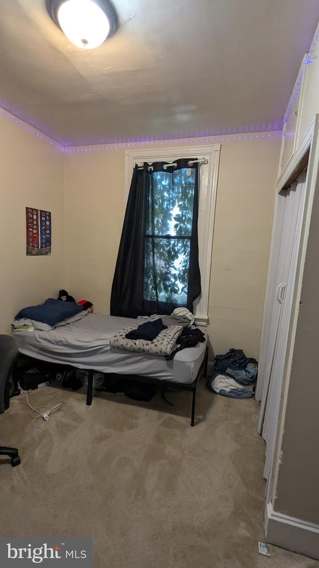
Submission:
[[278,330],[276,333],[275,349],[272,357],[267,398],[266,400],[262,400],[264,409],[262,436],[267,444],[264,469],[264,477],[266,479],[268,478],[270,472],[271,460],[275,450],[280,395],[282,392],[289,323],[291,318],[293,293],[295,290],[301,227],[303,224],[304,216],[306,177],[307,174],[303,173],[297,183],[291,186],[287,194],[287,216],[285,216],[285,224],[283,230],[284,242],[281,243],[283,253],[280,255],[280,261],[283,261],[284,263],[283,272],[284,274],[286,274],[287,278],[279,294],[281,305]]

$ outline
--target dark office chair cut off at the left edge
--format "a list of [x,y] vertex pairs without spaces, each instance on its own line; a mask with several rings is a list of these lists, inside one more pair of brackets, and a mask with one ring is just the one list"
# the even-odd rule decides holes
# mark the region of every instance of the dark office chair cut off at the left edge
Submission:
[[[10,377],[18,357],[18,344],[10,335],[0,335],[0,414],[10,406]],[[11,457],[11,465],[19,465],[20,458],[16,448],[0,446],[0,456]]]

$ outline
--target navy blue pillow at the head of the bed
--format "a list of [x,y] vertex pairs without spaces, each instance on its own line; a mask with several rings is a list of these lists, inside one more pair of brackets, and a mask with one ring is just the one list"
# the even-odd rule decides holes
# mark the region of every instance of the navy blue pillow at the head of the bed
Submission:
[[82,311],[82,306],[79,306],[75,302],[63,302],[62,300],[48,298],[45,300],[44,304],[23,308],[19,311],[19,314],[15,316],[15,319],[29,318],[47,323],[53,327],[58,321],[63,321]]

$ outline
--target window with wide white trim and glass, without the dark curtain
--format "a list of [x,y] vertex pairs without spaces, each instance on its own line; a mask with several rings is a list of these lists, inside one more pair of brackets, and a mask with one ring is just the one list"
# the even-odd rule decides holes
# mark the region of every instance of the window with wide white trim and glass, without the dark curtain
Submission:
[[[219,168],[220,145],[196,145],[196,147],[177,148],[158,148],[158,144],[152,144],[152,148],[130,149],[125,152],[125,202],[128,198],[129,186],[132,179],[132,172],[135,164],[142,165],[143,162],[149,164],[156,161],[172,162],[177,158],[194,157],[205,162],[199,168],[199,216],[198,216],[198,239],[199,239],[199,265],[202,282],[202,294],[194,302],[195,322],[199,325],[207,325],[208,319],[208,295],[209,277],[211,272],[211,255],[213,239],[213,223],[216,203],[217,176]],[[144,279],[144,294],[146,299],[152,300],[154,297],[154,286],[159,285],[157,290],[162,298],[167,298],[167,294],[173,294],[174,302],[183,302],[188,275],[188,258],[191,226],[190,212],[192,212],[191,192],[187,191],[186,169],[178,179],[174,180],[174,190],[169,187],[169,179],[172,174],[169,172],[157,172],[152,174],[152,206],[154,215],[149,215],[148,232],[145,235],[145,274],[150,274],[149,258],[147,253],[154,243],[157,244],[157,284],[152,278]],[[181,212],[178,208],[178,198],[183,193],[186,208],[183,211],[183,219],[179,217]],[[187,203],[188,201],[188,203]],[[152,226],[151,226],[152,225]],[[177,225],[177,226],[176,226]],[[165,268],[166,258],[169,258],[174,269],[171,270],[170,282],[165,282],[161,278],[161,268]],[[152,267],[152,272],[153,272]],[[164,273],[164,270],[162,270]],[[177,300],[178,299],[178,300]]]

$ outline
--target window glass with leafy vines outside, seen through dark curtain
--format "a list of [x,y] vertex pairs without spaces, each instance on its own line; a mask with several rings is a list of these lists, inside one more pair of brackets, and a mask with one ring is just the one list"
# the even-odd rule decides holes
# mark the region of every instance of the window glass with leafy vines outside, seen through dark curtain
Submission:
[[194,169],[150,175],[144,238],[144,299],[186,305],[190,265]]

